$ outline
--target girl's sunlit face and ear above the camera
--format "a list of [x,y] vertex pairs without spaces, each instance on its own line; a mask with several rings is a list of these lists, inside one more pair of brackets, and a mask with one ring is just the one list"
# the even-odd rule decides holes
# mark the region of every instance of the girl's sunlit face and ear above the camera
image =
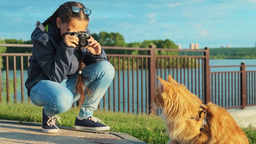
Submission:
[[63,34],[66,32],[80,32],[86,30],[86,27],[88,26],[88,21],[87,20],[78,20],[72,18],[68,23],[63,23],[61,22],[60,18],[57,18],[57,27],[60,28],[60,34],[63,37]]

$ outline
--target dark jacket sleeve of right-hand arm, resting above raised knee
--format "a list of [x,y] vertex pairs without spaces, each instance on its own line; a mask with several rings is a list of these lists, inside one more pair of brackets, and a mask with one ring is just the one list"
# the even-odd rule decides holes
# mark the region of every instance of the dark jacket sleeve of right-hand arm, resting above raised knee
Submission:
[[84,64],[88,66],[89,64],[93,64],[96,62],[100,62],[102,60],[108,60],[105,51],[101,48],[101,54],[99,55],[93,55],[89,52],[87,48],[85,48],[84,53]]

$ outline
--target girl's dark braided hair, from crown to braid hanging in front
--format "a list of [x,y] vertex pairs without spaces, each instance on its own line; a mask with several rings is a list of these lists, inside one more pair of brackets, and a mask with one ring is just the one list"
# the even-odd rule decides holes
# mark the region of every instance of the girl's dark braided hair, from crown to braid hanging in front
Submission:
[[[79,8],[85,8],[85,6],[80,2],[65,2],[64,4],[60,5],[60,7],[50,16],[47,20],[45,20],[42,24],[43,26],[46,26],[47,24],[52,24],[53,22],[56,22],[56,18],[60,18],[62,23],[69,23],[71,18],[78,19],[78,20],[88,20],[89,16],[87,14],[84,14],[82,10],[80,12],[72,12],[71,6],[77,6]],[[68,9],[70,8],[70,9]],[[66,12],[64,10],[68,9]],[[64,12],[62,14],[62,12]],[[78,71],[79,73],[82,71],[82,47],[78,46],[78,59],[79,59],[79,66]],[[84,79],[82,78],[82,75],[79,74],[77,80],[76,80],[76,93],[79,93],[82,98],[85,98],[84,94],[84,87],[86,89],[86,94],[89,94],[90,96],[90,89],[86,87],[84,84]]]

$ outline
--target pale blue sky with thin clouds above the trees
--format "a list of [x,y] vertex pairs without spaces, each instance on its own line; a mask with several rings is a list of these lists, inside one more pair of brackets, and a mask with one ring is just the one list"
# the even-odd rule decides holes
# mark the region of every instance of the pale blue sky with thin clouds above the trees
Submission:
[[[36,20],[44,22],[65,0],[1,0],[0,38],[30,40]],[[91,33],[119,32],[125,42],[172,40],[254,47],[256,0],[80,0],[92,10]]]

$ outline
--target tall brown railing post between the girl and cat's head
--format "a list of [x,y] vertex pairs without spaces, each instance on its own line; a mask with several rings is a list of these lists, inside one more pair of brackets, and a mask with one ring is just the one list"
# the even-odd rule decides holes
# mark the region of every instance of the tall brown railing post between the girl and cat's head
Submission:
[[148,51],[148,55],[150,55],[150,60],[148,61],[148,109],[151,110],[150,113],[153,114],[152,104],[154,99],[154,90],[156,89],[156,48],[154,47],[154,45],[150,45],[149,47],[151,48],[151,50]]

